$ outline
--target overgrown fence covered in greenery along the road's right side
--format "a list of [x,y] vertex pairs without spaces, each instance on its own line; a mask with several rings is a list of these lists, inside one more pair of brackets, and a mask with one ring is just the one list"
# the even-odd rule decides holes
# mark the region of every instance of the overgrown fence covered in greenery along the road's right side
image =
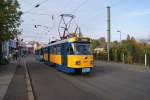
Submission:
[[[107,53],[94,53],[95,60],[107,61]],[[147,65],[150,66],[150,52],[146,54]],[[121,53],[121,52],[111,52],[110,60],[114,62],[122,62],[126,64],[145,64],[145,53],[141,52],[139,54]]]

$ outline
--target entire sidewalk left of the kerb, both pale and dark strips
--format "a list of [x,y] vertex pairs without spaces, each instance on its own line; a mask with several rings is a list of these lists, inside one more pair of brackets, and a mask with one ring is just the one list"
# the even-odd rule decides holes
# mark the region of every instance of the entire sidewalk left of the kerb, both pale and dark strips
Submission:
[[0,66],[0,100],[28,100],[25,67],[17,64]]

